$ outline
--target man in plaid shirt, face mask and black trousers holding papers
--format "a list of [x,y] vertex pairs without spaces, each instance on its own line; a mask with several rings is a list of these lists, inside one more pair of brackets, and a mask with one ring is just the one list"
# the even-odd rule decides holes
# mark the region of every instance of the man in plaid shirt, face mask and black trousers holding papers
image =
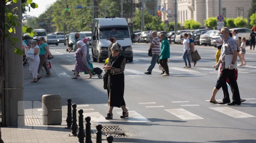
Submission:
[[[229,36],[229,29],[227,27],[224,27],[220,30],[220,38],[223,39],[223,45],[220,52],[219,62],[215,65],[215,69],[218,70],[220,64],[222,64],[223,68],[219,76],[219,82],[222,86],[224,98],[222,99],[222,102],[219,102],[218,104],[240,105],[240,93],[235,79],[234,71],[234,64],[238,55],[238,45],[236,41]],[[225,68],[225,55],[233,55],[231,64],[228,66],[228,68]],[[229,79],[229,83],[234,89],[232,97],[233,101],[231,103],[229,99],[228,86],[226,85],[226,78]]]

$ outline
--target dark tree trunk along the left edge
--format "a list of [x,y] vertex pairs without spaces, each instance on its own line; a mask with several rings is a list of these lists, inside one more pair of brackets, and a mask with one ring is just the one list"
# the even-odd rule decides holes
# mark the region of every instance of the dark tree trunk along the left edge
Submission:
[[[0,0],[0,109],[2,102],[2,95],[4,94],[2,88],[4,87],[4,35],[5,35],[5,0]],[[1,127],[0,127],[0,143],[3,143],[1,138]]]

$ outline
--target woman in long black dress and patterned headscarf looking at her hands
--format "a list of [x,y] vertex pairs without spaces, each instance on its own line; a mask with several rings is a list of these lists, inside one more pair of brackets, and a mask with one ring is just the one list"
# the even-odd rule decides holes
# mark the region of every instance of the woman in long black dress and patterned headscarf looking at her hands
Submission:
[[111,55],[108,63],[104,66],[105,72],[108,73],[108,105],[110,109],[105,119],[113,118],[112,110],[114,107],[122,108],[123,113],[120,118],[128,117],[128,110],[124,102],[124,67],[126,65],[126,58],[121,54],[123,48],[118,42],[114,42],[111,47]]

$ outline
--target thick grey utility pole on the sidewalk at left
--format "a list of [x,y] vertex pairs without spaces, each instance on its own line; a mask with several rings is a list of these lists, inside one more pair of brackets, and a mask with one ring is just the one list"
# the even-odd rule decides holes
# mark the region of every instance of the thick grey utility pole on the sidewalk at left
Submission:
[[[10,10],[18,7],[15,13],[18,19],[21,17],[21,1],[12,5],[6,5]],[[16,26],[16,33],[12,32],[5,38],[4,47],[4,96],[2,97],[2,126],[24,126],[24,86],[23,86],[23,62],[22,56],[14,53],[14,48],[22,50],[22,30],[21,25]],[[18,38],[15,46],[11,46],[11,37]],[[12,48],[10,48],[12,47]]]

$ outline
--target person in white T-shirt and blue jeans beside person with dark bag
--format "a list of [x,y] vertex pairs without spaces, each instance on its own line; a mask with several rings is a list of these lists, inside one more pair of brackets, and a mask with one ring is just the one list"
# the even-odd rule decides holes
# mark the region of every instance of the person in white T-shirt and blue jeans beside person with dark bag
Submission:
[[[183,34],[183,46],[184,46],[184,53],[182,55],[182,58],[184,59],[185,62],[185,66],[183,68],[191,68],[191,63],[190,63],[190,58],[188,57],[188,54],[190,54],[189,49],[190,49],[190,42],[188,40],[188,34],[184,33]],[[188,61],[188,65],[187,65],[187,61]]]

